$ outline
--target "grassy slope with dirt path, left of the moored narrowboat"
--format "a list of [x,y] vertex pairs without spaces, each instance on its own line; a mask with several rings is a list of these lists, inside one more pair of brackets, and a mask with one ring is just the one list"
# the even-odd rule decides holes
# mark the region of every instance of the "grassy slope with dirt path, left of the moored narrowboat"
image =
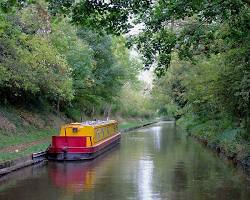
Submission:
[[0,162],[46,149],[68,119],[50,110],[0,107]]

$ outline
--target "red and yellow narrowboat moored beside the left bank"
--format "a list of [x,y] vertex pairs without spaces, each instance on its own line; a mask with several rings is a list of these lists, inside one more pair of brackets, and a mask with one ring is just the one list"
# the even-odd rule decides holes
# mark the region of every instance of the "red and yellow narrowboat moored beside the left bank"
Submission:
[[47,150],[49,160],[89,160],[119,144],[121,134],[115,120],[70,123],[52,136]]

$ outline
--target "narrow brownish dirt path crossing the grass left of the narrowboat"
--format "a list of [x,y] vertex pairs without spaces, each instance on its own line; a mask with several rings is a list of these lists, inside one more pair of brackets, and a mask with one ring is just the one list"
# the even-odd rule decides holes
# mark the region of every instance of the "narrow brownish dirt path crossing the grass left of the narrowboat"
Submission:
[[41,144],[43,142],[47,142],[49,141],[50,138],[44,138],[41,140],[37,140],[37,141],[33,141],[33,142],[29,142],[29,143],[25,143],[25,144],[16,144],[16,145],[11,145],[9,147],[4,147],[4,148],[0,148],[0,153],[11,153],[11,152],[15,152],[17,151],[22,151],[28,147],[37,145],[37,144]]

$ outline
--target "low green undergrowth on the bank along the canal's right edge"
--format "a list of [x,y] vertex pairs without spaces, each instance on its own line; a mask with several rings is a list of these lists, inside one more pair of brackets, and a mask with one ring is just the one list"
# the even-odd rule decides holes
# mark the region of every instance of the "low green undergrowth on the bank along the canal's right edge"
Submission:
[[212,150],[240,164],[250,167],[250,143],[244,129],[235,126],[226,118],[201,120],[182,117],[177,122],[188,134],[207,145]]

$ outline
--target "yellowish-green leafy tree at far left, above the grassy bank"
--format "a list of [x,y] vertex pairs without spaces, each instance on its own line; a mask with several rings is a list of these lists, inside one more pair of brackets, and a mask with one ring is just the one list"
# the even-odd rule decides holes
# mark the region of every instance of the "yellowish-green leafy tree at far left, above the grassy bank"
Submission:
[[10,15],[1,13],[1,99],[21,102],[41,96],[70,101],[73,98],[71,68],[50,44],[50,39],[39,33],[43,24],[29,26],[27,12],[30,10]]

